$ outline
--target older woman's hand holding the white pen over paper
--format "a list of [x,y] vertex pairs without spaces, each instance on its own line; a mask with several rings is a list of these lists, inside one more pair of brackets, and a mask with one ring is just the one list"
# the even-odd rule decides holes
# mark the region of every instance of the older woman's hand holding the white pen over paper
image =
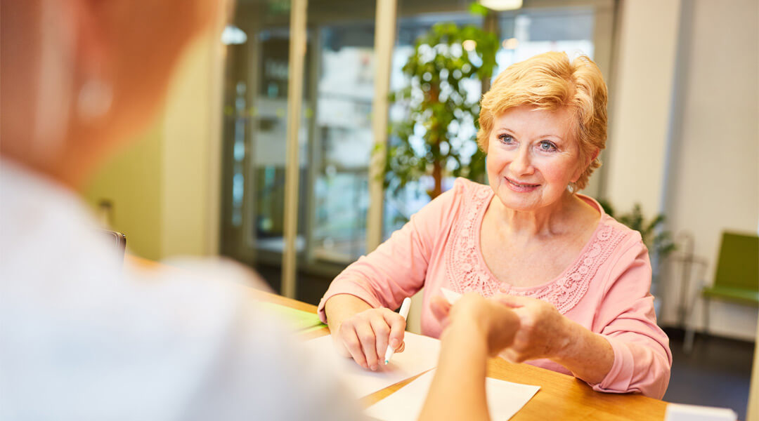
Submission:
[[335,348],[365,369],[376,370],[379,364],[384,364],[388,346],[396,353],[405,348],[406,320],[388,308],[356,313],[343,320],[337,330],[337,334],[332,335]]

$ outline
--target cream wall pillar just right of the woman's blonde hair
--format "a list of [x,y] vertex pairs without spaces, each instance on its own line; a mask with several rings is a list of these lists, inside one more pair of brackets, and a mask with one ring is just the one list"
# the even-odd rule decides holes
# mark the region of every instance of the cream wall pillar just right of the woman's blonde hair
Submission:
[[622,211],[661,207],[679,17],[679,0],[621,3],[604,196]]

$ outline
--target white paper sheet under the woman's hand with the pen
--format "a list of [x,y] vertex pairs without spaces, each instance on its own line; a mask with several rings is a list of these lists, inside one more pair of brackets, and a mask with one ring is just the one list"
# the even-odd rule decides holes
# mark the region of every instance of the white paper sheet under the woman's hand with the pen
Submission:
[[339,355],[329,335],[307,341],[305,346],[341,373],[345,385],[361,398],[437,366],[440,353],[438,339],[406,332],[403,341],[405,351],[395,353],[388,365],[381,361],[376,371],[364,370],[354,360]]

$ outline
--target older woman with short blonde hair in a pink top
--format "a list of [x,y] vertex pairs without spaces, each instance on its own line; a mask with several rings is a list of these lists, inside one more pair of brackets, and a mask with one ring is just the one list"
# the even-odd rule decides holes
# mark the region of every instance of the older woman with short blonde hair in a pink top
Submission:
[[402,349],[402,299],[424,288],[422,332],[438,337],[440,288],[497,295],[520,323],[502,356],[572,374],[598,391],[661,398],[669,340],[657,326],[641,235],[587,185],[606,143],[606,86],[587,57],[514,64],[483,96],[490,186],[457,179],[330,285],[320,306],[339,351],[376,369]]

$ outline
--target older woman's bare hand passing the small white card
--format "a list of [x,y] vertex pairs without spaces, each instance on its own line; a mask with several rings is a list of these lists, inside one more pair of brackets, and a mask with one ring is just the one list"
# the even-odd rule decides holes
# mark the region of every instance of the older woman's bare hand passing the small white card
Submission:
[[571,344],[568,320],[550,303],[516,295],[496,295],[493,299],[512,307],[519,317],[520,325],[512,345],[500,353],[507,360],[521,363],[538,358],[553,359]]

